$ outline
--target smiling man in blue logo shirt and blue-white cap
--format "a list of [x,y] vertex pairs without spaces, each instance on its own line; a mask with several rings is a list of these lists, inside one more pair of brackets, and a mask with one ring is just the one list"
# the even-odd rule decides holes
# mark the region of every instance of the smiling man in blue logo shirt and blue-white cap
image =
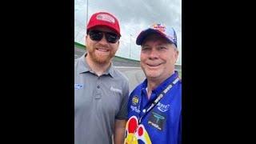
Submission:
[[180,144],[182,82],[175,70],[177,35],[173,28],[154,24],[138,34],[141,67],[146,75],[130,94],[125,143]]

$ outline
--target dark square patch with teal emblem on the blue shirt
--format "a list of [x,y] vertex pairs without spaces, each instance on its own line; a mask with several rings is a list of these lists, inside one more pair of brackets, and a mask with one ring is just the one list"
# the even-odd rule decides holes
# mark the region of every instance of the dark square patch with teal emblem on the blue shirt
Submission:
[[166,121],[166,117],[164,117],[158,113],[152,112],[152,113],[150,113],[150,118],[147,123],[151,126],[154,126],[158,130],[162,130],[163,124],[165,121]]

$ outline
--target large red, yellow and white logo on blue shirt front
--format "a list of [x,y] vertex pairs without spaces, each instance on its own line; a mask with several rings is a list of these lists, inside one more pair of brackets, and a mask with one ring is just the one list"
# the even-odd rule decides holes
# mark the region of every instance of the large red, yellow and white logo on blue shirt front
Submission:
[[126,123],[125,144],[138,144],[138,140],[146,144],[152,143],[145,127],[142,124],[138,125],[138,118],[132,116]]

